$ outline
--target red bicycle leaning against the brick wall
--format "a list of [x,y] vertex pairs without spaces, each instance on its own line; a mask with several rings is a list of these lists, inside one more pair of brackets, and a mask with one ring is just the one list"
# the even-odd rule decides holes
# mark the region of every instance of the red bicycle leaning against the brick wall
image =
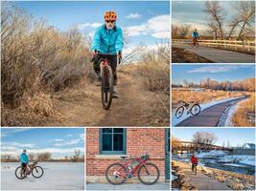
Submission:
[[128,157],[121,157],[122,163],[110,164],[105,171],[106,180],[114,185],[120,185],[126,180],[135,177],[135,172],[138,170],[138,179],[147,185],[157,182],[160,177],[158,167],[147,162],[150,159],[149,155],[144,155],[141,158],[127,160]]

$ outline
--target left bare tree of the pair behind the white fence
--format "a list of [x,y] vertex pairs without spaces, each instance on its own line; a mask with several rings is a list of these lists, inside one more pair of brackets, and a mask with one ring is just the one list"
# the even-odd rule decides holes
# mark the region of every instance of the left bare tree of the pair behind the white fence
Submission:
[[220,32],[221,40],[223,39],[223,11],[221,5],[218,1],[206,1],[205,2],[206,10],[205,12],[210,16],[210,22],[208,24],[209,27],[213,30],[213,32],[217,32],[216,28],[218,27],[218,32]]

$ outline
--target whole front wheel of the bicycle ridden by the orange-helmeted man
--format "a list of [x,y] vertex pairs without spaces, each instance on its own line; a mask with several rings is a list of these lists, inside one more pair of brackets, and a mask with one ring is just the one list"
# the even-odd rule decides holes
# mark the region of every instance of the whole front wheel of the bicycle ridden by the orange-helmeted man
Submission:
[[102,67],[102,103],[103,108],[108,110],[111,106],[113,95],[113,72],[110,66]]

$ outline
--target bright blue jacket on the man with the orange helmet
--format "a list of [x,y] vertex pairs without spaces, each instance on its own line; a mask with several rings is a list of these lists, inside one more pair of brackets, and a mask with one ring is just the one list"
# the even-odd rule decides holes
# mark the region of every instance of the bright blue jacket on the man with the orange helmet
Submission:
[[119,53],[123,51],[123,32],[115,26],[112,30],[107,30],[106,26],[99,27],[92,40],[92,51],[100,53]]

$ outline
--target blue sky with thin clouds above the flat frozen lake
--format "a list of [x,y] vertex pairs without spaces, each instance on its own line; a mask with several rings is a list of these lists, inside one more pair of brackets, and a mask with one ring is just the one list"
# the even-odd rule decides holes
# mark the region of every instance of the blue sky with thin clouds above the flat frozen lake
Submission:
[[2,154],[15,157],[23,149],[28,154],[50,152],[53,159],[74,156],[75,149],[84,155],[84,132],[81,128],[1,129]]

